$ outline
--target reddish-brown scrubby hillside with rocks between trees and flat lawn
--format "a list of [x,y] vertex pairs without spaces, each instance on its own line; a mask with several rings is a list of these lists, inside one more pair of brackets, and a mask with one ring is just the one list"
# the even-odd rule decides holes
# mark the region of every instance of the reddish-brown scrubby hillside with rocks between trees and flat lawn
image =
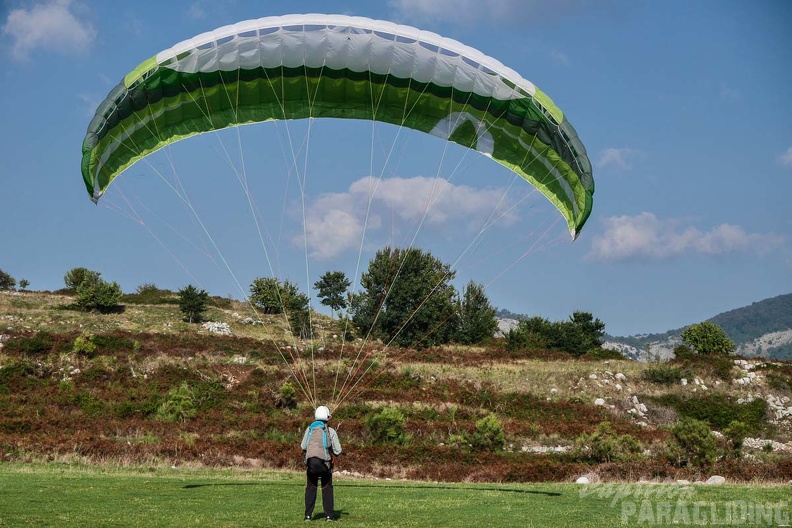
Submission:
[[[207,319],[226,323],[230,336],[181,321],[171,304],[130,303],[100,315],[75,310],[68,296],[0,294],[5,460],[299,469],[312,406],[299,393],[293,403],[284,398],[284,385],[295,382],[283,355],[294,344],[288,330],[277,318],[247,324],[243,305],[219,304]],[[342,348],[332,321],[318,322],[328,330],[317,336],[308,372],[327,398],[360,344]],[[89,338],[95,349],[84,346]],[[596,361],[509,352],[497,341],[367,352],[377,360],[333,413],[349,474],[465,482],[584,474],[792,479],[788,363]],[[371,418],[383,408],[406,419],[399,442],[378,441]],[[505,435],[494,449],[482,422],[488,416]],[[717,431],[743,422],[744,456],[731,455],[718,437],[713,464],[680,460],[669,452],[669,427],[685,416]]]

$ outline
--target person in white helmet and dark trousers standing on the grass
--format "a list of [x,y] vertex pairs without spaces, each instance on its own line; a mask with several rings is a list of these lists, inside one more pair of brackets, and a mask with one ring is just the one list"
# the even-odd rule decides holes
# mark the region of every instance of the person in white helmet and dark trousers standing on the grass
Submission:
[[322,483],[322,508],[326,521],[335,520],[333,497],[333,458],[341,455],[338,434],[327,422],[330,409],[320,405],[314,412],[314,422],[303,435],[300,448],[303,450],[307,483],[305,485],[305,520],[310,521],[316,504],[316,490]]

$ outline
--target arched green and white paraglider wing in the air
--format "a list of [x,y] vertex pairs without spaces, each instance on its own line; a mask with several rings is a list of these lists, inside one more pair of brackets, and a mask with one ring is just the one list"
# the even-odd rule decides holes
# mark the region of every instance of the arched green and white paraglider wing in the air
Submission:
[[198,35],[142,62],[99,106],[82,174],[98,201],[181,139],[275,119],[393,123],[490,156],[539,189],[576,237],[594,181],[561,110],[497,60],[435,33],[342,15],[286,15]]

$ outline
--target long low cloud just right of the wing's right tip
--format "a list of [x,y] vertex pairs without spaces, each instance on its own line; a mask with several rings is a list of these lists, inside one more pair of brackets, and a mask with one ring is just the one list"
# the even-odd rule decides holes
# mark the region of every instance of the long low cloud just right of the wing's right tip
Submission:
[[594,237],[588,257],[616,261],[662,259],[683,253],[725,255],[752,252],[764,255],[784,243],[785,239],[780,235],[746,233],[735,225],[721,224],[709,231],[701,231],[679,221],[661,220],[644,212],[608,218],[605,232]]

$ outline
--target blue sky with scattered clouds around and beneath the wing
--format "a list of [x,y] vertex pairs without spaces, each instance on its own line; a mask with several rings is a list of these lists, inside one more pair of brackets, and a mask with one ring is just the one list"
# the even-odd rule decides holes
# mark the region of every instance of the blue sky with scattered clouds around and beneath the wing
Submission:
[[[414,243],[455,263],[458,287],[485,284],[498,307],[552,320],[590,311],[616,335],[678,328],[792,292],[790,2],[0,7],[0,269],[31,289],[61,288],[64,273],[81,266],[126,292],[196,284],[242,298],[255,277],[303,287],[328,270],[352,277],[382,245]],[[434,31],[548,93],[594,166],[594,211],[579,239],[491,160],[363,122],[265,123],[193,138],[136,164],[91,203],[82,140],[127,72],[222,25],[309,12]],[[369,176],[379,183],[366,219]],[[421,222],[430,195],[437,200]],[[493,210],[499,221],[477,238]]]

